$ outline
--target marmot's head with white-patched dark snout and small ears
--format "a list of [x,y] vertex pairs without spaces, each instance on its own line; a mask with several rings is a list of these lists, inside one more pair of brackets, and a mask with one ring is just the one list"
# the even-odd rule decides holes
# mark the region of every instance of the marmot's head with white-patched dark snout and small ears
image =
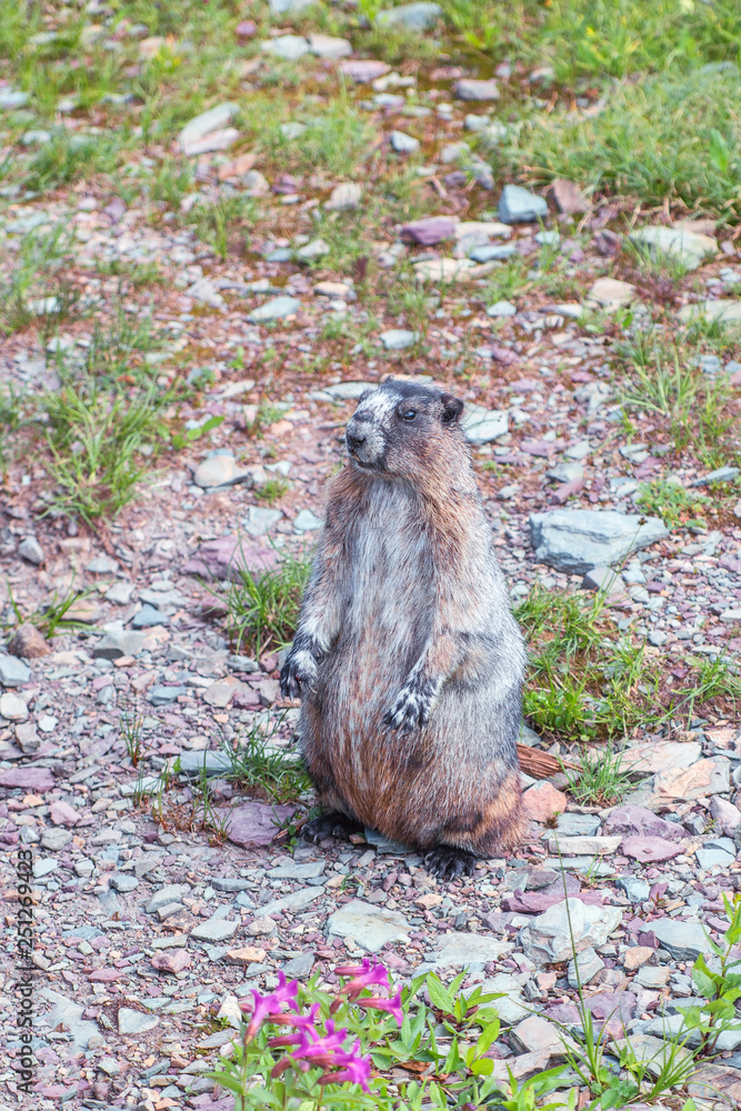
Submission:
[[[462,443],[463,402],[452,393],[385,379],[358,401],[344,439],[353,467],[388,478],[413,478],[440,452]],[[458,452],[453,452],[457,454]]]

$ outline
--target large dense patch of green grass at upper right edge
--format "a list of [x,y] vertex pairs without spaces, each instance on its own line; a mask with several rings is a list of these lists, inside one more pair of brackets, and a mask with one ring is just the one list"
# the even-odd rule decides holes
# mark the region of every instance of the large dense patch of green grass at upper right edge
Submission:
[[597,193],[741,216],[741,74],[662,73],[625,80],[602,111],[533,113],[511,128],[495,171],[540,184],[568,178]]

